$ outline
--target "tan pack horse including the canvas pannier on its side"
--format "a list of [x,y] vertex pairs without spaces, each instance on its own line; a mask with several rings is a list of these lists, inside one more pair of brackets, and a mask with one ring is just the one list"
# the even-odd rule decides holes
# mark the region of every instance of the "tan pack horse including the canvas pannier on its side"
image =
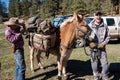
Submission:
[[[83,20],[83,16],[78,15],[76,12],[73,14],[72,18],[61,24],[60,29],[53,30],[53,26],[47,21],[43,21],[40,25],[41,24],[42,26],[50,28],[50,34],[38,35],[35,33],[31,34],[32,37],[29,37],[31,70],[34,70],[33,54],[34,51],[37,50],[37,61],[40,68],[43,68],[40,62],[41,52],[55,54],[57,56],[58,79],[61,79],[62,75],[66,77],[66,66],[72,52],[72,44],[76,36],[85,37],[90,29],[87,26],[87,23]],[[39,32],[41,31],[39,30]],[[43,46],[44,44],[47,44],[48,46],[44,46],[43,48],[43,46],[39,46],[38,44],[43,44]]]

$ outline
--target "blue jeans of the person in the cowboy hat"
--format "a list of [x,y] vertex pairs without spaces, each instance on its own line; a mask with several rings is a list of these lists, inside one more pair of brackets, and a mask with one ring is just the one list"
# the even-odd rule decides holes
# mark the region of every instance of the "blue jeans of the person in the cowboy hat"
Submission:
[[24,49],[17,49],[15,51],[15,59],[16,59],[16,80],[25,80],[25,71],[26,65],[24,60]]

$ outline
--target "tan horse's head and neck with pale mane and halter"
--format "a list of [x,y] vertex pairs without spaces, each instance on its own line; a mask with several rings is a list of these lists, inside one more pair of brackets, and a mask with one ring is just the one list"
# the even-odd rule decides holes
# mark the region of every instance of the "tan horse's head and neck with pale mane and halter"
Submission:
[[84,17],[74,12],[72,18],[69,18],[64,23],[61,24],[60,29],[61,44],[64,43],[65,45],[70,47],[71,43],[74,42],[75,38],[77,37],[86,38],[89,36],[90,31],[91,29],[84,21]]

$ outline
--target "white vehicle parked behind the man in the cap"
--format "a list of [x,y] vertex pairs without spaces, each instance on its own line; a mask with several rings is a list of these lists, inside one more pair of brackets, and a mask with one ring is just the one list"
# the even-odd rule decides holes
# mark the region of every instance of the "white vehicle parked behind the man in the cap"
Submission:
[[[111,37],[110,40],[113,40],[113,39],[119,40],[120,39],[120,17],[106,16],[106,17],[102,17],[102,19],[110,30],[110,37]],[[93,20],[93,17],[86,17],[84,20],[89,24]],[[79,40],[76,40],[76,44],[79,45],[76,47],[82,47],[85,44],[85,41],[79,38]]]

